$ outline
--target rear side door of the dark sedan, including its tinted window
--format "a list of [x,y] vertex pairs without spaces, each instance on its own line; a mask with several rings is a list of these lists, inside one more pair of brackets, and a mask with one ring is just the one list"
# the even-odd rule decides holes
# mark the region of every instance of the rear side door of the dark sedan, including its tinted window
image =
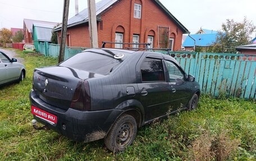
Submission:
[[164,76],[163,57],[150,54],[141,57],[136,71],[139,100],[144,107],[144,121],[166,115],[171,89]]

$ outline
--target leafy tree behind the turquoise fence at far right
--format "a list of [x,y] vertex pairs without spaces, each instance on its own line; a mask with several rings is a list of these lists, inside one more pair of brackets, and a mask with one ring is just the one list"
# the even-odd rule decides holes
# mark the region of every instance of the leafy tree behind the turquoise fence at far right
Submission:
[[251,43],[251,35],[256,26],[252,21],[244,17],[243,22],[235,22],[227,19],[226,24],[222,24],[222,31],[218,31],[216,42],[212,45],[212,52],[236,53],[236,47]]

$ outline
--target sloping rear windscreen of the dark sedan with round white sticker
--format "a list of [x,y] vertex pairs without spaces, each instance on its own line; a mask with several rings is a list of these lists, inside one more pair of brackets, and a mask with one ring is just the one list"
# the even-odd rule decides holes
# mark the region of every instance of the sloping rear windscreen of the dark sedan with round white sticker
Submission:
[[108,75],[129,55],[116,50],[85,50],[60,63],[60,66]]

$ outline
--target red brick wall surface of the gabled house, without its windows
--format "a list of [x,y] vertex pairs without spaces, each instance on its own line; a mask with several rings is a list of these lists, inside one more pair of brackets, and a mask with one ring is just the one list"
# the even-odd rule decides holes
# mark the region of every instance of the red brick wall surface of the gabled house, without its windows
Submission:
[[[134,18],[134,3],[141,4],[141,19]],[[98,22],[99,47],[101,47],[103,41],[115,42],[116,29],[118,26],[122,26],[125,30],[125,43],[132,42],[133,34],[139,35],[140,43],[147,43],[149,33],[154,33],[154,48],[158,48],[158,26],[162,26],[170,28],[169,37],[175,38],[173,50],[181,49],[182,30],[152,0],[118,1],[100,15],[100,18],[102,22]],[[102,29],[100,29],[100,26],[102,26]],[[72,27],[68,29],[68,32],[72,47],[89,47],[88,24]],[[123,45],[124,48],[127,46],[129,45]],[[107,44],[106,47],[115,47],[115,44]]]

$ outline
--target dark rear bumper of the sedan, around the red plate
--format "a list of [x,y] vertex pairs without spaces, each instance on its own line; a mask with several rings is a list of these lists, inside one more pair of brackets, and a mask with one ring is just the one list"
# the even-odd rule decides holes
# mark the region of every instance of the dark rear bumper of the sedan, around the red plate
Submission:
[[34,115],[38,122],[74,141],[89,142],[103,139],[115,122],[115,118],[122,113],[121,110],[116,109],[77,111],[69,108],[66,111],[43,102],[33,90],[29,97],[31,105],[57,116],[57,123],[50,123]]

